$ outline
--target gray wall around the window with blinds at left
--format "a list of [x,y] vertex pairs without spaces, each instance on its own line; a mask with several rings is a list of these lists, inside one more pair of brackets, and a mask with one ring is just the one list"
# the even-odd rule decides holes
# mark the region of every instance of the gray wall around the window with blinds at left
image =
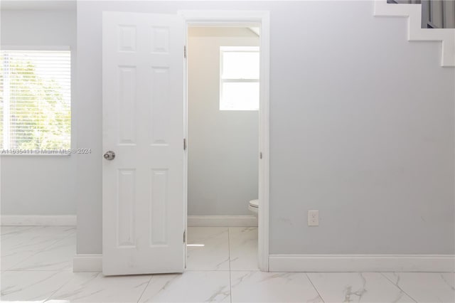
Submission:
[[[75,102],[76,11],[1,10],[2,46],[70,46]],[[73,121],[74,122],[74,121]],[[75,147],[75,124],[71,144]],[[2,156],[2,215],[75,215],[76,156]]]

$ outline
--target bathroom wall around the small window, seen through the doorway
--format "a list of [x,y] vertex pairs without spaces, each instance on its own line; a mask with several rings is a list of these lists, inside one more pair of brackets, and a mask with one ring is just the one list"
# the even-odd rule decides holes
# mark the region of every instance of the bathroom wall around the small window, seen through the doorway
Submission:
[[220,111],[220,46],[259,46],[248,28],[188,31],[188,215],[251,215],[257,198],[256,110]]

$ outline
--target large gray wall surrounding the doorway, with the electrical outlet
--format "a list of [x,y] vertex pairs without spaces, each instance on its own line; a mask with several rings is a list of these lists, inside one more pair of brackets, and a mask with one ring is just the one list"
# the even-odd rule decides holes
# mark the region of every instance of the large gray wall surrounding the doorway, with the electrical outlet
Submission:
[[373,1],[80,1],[78,253],[102,252],[102,11],[180,9],[270,11],[271,253],[454,253],[455,71]]

